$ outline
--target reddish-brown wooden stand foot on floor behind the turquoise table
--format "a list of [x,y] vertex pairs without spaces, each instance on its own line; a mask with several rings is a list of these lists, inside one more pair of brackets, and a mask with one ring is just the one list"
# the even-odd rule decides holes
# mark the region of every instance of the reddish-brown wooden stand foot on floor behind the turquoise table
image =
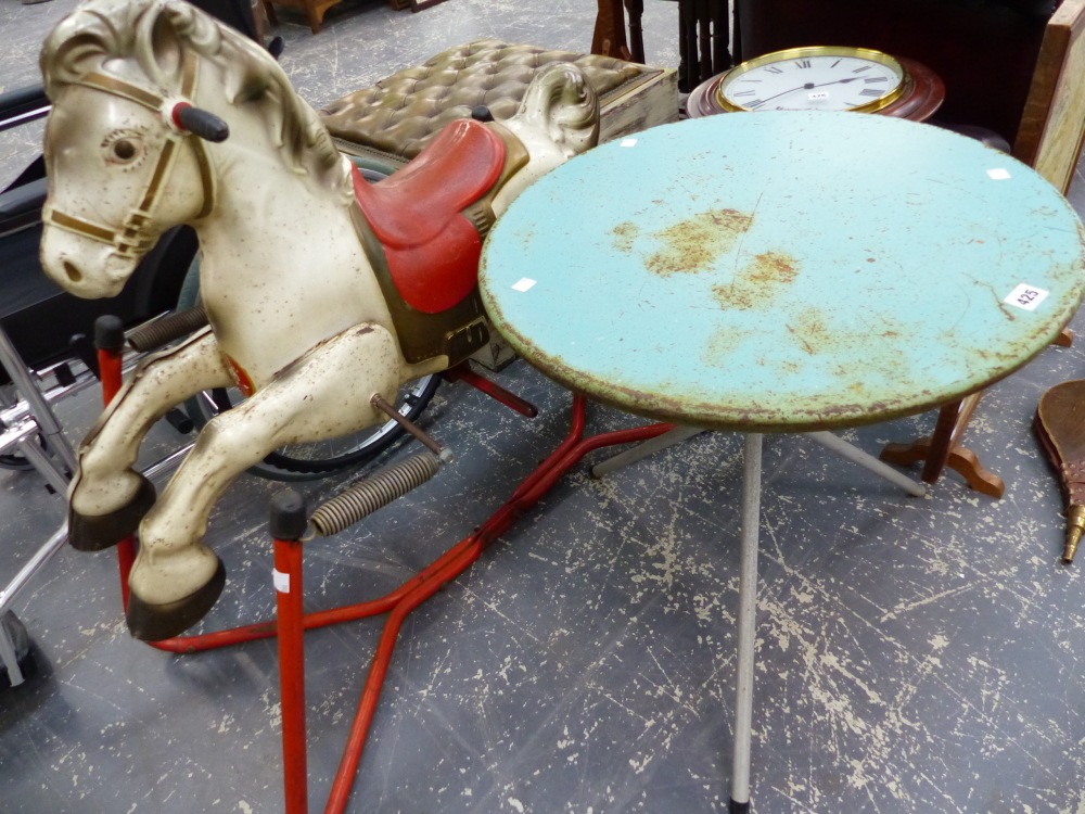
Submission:
[[971,451],[960,445],[961,436],[983,393],[945,405],[939,410],[939,421],[934,434],[919,438],[911,444],[886,444],[879,456],[888,463],[899,467],[923,461],[923,481],[934,483],[946,467],[954,470],[976,492],[995,499],[1006,492],[1003,480],[988,472]]

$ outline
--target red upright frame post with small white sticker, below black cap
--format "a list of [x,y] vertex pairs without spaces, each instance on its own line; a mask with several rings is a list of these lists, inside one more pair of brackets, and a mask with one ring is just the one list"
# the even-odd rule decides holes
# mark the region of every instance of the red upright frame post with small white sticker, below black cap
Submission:
[[275,542],[279,633],[279,694],[282,703],[282,763],[286,814],[306,814],[305,627],[302,621],[302,544]]

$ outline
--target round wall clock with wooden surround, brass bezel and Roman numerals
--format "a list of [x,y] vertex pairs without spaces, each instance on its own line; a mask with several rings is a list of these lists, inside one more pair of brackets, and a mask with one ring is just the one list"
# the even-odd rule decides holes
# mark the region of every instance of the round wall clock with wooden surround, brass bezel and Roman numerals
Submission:
[[689,94],[690,118],[740,111],[855,111],[922,122],[945,99],[937,74],[869,48],[775,51],[736,65]]

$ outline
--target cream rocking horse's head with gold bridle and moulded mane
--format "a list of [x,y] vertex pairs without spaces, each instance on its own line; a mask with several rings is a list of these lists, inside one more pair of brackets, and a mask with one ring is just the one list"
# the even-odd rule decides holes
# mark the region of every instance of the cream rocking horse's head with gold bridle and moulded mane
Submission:
[[41,72],[41,265],[79,296],[118,293],[162,232],[212,215],[237,137],[297,174],[339,166],[270,54],[181,0],[87,0],[47,38]]

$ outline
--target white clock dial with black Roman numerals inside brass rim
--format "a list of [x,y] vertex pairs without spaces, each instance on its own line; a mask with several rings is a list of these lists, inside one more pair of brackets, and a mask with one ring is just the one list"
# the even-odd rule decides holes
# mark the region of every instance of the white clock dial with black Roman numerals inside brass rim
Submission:
[[894,94],[905,78],[899,63],[891,59],[880,62],[861,56],[816,54],[752,63],[739,66],[719,84],[719,96],[733,107],[861,110]]

